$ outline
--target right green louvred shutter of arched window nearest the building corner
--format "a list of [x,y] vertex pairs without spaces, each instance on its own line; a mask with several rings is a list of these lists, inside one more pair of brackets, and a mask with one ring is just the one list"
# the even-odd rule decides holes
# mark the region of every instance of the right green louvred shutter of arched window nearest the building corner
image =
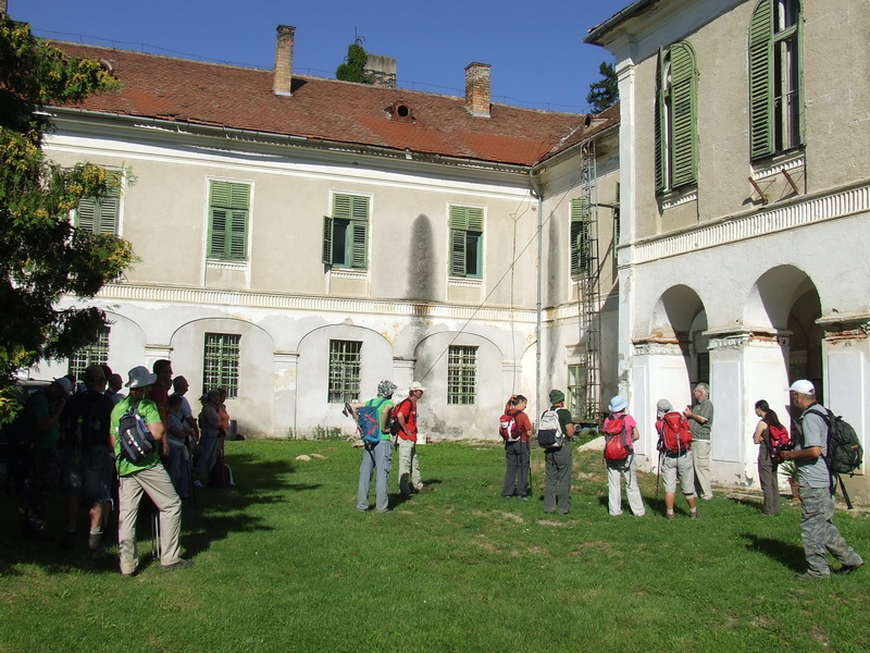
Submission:
[[697,181],[695,53],[687,42],[671,46],[671,187]]

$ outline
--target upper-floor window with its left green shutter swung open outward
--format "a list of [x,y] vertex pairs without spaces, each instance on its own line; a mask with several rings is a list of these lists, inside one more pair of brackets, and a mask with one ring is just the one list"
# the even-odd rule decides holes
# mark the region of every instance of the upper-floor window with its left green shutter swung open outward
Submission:
[[355,270],[369,267],[368,197],[333,196],[333,214],[323,217],[323,262]]

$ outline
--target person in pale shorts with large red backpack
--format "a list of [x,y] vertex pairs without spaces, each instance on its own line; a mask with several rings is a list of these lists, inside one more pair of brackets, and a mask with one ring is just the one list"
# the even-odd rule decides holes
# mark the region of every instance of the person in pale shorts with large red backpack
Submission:
[[661,476],[664,477],[664,518],[673,519],[676,480],[688,504],[692,519],[700,519],[695,501],[695,469],[692,464],[692,431],[685,416],[676,412],[668,399],[656,404],[656,431],[659,434]]

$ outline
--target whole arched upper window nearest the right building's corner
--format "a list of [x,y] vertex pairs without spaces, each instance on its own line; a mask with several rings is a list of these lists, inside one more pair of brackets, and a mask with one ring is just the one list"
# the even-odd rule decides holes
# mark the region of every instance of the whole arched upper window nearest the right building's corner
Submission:
[[656,93],[656,192],[697,183],[697,70],[687,42],[659,51]]

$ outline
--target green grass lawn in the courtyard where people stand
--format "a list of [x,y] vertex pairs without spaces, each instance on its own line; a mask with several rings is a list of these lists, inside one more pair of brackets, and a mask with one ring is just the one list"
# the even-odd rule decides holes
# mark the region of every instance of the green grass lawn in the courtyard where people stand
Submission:
[[[519,502],[499,496],[500,446],[439,443],[420,447],[435,492],[358,513],[360,455],[338,441],[227,443],[237,486],[185,506],[195,566],[161,571],[144,521],[130,579],[114,549],[23,541],[16,504],[0,496],[0,652],[868,648],[870,567],[793,580],[805,564],[785,497],[766,518],[760,495],[719,491],[692,521],[678,496],[667,521],[643,476],[647,517],[609,517],[600,454],[575,453],[571,514],[544,515],[539,451],[533,501]],[[835,518],[865,557],[869,519]]]

